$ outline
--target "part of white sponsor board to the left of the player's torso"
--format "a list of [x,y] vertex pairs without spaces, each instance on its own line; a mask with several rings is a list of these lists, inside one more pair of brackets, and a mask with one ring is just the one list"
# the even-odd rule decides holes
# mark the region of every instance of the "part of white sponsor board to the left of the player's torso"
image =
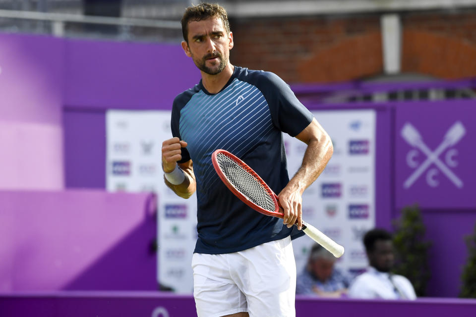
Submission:
[[106,186],[109,191],[157,193],[157,279],[189,294],[197,200],[180,198],[163,181],[161,148],[172,137],[170,116],[170,111],[155,110],[107,112]]

